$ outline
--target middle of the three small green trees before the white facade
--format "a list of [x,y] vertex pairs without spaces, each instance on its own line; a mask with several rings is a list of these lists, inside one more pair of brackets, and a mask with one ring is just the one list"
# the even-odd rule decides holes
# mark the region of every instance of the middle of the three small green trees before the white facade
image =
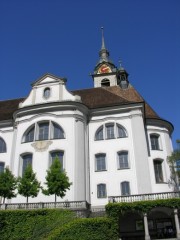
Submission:
[[29,197],[37,197],[40,188],[40,182],[38,182],[32,166],[28,164],[23,176],[18,179],[18,193],[26,197],[26,203],[28,203]]

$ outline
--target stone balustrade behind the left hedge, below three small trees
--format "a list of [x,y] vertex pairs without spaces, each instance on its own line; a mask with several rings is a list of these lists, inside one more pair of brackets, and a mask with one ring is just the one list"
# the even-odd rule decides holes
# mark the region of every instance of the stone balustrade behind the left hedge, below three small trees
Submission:
[[0,210],[63,208],[71,210],[88,210],[90,204],[86,201],[39,202],[39,203],[10,203],[0,204]]

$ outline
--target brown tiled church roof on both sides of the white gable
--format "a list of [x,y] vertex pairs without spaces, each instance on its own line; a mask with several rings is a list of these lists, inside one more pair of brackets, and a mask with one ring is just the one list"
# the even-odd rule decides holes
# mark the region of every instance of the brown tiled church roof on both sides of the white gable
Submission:
[[[127,89],[113,86],[75,90],[72,91],[72,94],[79,95],[82,103],[89,109],[144,102],[145,117],[160,119],[157,113],[131,85]],[[24,98],[0,101],[0,121],[12,119],[13,113],[23,100]]]

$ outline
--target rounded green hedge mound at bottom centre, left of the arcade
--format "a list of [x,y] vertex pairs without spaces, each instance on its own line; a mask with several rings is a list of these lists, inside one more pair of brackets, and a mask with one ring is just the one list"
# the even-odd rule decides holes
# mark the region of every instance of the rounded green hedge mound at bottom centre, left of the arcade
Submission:
[[56,229],[47,240],[117,240],[116,228],[108,218],[78,219]]

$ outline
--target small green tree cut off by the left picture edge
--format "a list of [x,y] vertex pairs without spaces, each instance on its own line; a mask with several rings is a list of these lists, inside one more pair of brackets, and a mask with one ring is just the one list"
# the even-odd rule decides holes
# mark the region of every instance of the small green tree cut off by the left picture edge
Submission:
[[5,199],[11,199],[16,197],[17,187],[17,179],[9,170],[9,168],[5,168],[3,172],[0,173],[0,196],[3,197],[3,204],[5,203]]

